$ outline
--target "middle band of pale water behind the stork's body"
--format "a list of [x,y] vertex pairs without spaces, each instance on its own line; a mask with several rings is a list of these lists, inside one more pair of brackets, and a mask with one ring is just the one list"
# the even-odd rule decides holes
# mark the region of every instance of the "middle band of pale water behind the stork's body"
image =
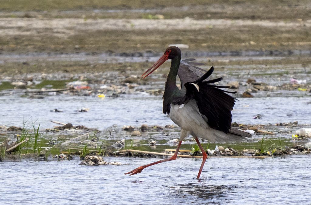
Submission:
[[[162,97],[147,93],[122,95],[119,98],[96,98],[85,96],[48,96],[30,99],[16,96],[1,96],[0,125],[22,126],[31,117],[40,120],[41,128],[52,128],[61,121],[103,130],[112,125],[167,125],[174,124],[162,114]],[[239,98],[232,111],[233,119],[244,124],[267,124],[298,121],[310,123],[306,107],[311,96]],[[77,112],[82,107],[88,112]],[[50,112],[57,108],[64,112]],[[261,114],[261,119],[253,119]],[[138,122],[137,122],[138,121]]]

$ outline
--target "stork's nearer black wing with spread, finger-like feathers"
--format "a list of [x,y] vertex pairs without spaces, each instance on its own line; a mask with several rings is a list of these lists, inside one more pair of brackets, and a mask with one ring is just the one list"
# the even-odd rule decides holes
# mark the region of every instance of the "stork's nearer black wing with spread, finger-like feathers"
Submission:
[[[180,103],[187,103],[194,99],[202,115],[204,115],[207,124],[216,130],[221,130],[225,133],[230,132],[233,109],[236,98],[227,93],[236,93],[222,90],[220,88],[229,88],[228,86],[218,86],[212,83],[222,80],[217,78],[206,80],[214,71],[211,67],[204,75],[195,81],[186,82],[184,84],[187,89],[183,100]],[[183,102],[182,102],[183,101]]]

